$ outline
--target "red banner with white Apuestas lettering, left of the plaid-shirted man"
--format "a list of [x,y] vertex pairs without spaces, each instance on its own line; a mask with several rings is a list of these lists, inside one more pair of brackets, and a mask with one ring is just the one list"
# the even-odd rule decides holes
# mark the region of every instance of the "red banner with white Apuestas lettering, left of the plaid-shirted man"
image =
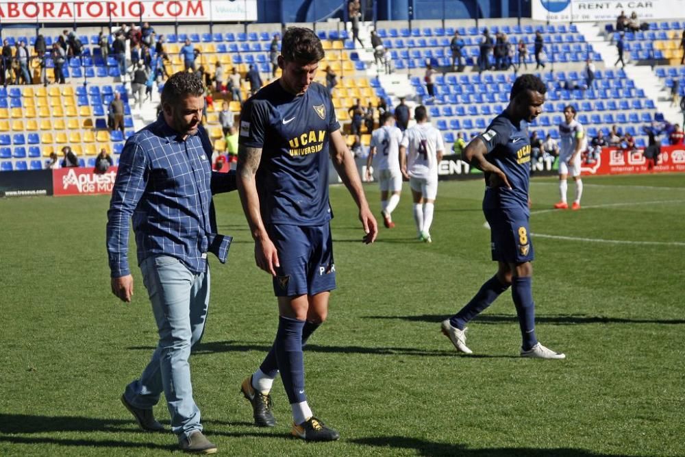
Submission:
[[53,195],[110,194],[116,178],[116,166],[106,173],[93,173],[92,168],[70,167],[52,171]]

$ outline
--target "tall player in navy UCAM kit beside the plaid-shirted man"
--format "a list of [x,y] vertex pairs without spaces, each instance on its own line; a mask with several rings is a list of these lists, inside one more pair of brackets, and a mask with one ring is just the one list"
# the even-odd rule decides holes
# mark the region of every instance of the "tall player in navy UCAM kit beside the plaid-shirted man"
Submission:
[[240,389],[256,425],[271,427],[270,392],[280,372],[292,408],[292,434],[307,441],[340,438],[308,406],[302,356],[303,345],[326,319],[329,291],[336,287],[329,160],[357,203],[364,241],[373,243],[377,234],[329,92],[314,82],[323,57],[321,40],[312,30],[286,30],[278,56],[282,76],[242,108],[237,170],[255,259],[273,276],[279,308],[273,347]]

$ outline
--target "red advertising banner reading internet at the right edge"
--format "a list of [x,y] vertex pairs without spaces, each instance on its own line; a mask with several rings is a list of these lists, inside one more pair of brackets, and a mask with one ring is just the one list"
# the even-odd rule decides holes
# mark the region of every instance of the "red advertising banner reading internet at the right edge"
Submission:
[[642,149],[624,151],[604,148],[594,164],[583,164],[582,175],[630,175],[639,173],[685,172],[685,146],[662,146],[656,165]]

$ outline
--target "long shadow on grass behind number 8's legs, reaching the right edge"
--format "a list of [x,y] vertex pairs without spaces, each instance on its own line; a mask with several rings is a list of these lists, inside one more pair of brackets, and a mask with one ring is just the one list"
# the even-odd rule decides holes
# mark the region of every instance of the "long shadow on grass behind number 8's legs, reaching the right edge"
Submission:
[[[445,320],[447,314],[416,314],[416,316],[366,316],[366,319],[401,319],[410,322],[440,323]],[[593,323],[656,323],[664,325],[682,325],[685,319],[624,319],[622,317],[586,316],[579,314],[538,315],[537,323],[551,323],[556,325],[576,325]],[[512,323],[516,322],[516,316],[507,314],[482,314],[475,319],[474,323]]]

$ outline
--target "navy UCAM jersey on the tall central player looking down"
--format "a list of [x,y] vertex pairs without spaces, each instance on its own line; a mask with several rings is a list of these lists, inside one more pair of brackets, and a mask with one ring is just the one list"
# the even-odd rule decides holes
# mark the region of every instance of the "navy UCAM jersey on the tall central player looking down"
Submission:
[[240,145],[262,149],[257,191],[264,223],[321,225],[331,219],[328,143],[340,129],[328,90],[292,95],[275,81],[242,107]]

